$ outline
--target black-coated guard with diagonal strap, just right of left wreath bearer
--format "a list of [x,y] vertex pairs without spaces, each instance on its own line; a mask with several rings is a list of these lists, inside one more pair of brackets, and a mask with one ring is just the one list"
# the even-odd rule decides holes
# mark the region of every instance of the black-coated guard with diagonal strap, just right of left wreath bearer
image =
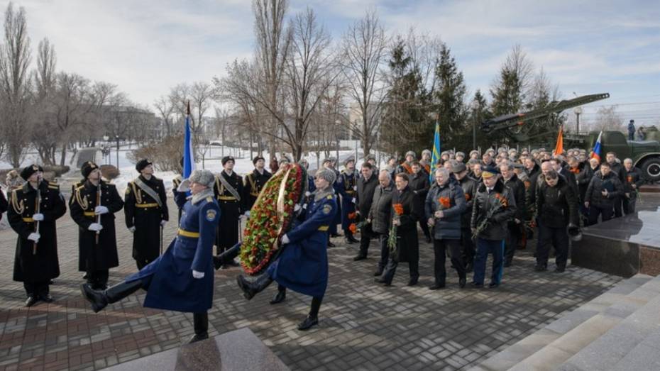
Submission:
[[238,222],[242,214],[241,194],[243,194],[243,179],[233,172],[235,164],[233,157],[222,157],[221,163],[224,170],[216,175],[214,186],[214,194],[222,213],[216,233],[217,255],[238,243]]

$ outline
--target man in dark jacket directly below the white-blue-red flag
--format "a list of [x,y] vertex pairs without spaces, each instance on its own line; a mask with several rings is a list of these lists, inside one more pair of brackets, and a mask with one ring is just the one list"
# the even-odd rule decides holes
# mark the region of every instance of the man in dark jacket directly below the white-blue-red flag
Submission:
[[584,196],[584,206],[589,209],[589,225],[612,218],[615,202],[623,195],[623,184],[619,177],[610,171],[609,162],[600,164],[600,172],[593,175]]

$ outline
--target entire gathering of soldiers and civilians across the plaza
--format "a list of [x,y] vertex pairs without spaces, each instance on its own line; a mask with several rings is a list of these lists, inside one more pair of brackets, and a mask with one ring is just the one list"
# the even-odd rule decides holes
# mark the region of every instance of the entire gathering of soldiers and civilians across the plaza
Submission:
[[[309,175],[301,208],[306,211],[301,216],[304,223],[280,241],[303,251],[313,247],[316,255],[307,260],[298,256],[288,265],[286,261],[275,264],[280,269],[255,282],[238,279],[244,296],[251,299],[275,280],[278,289],[270,303],[285,301],[287,288],[309,294],[312,309],[299,329],[316,325],[328,272],[325,269],[313,281],[301,272],[306,272],[306,265],[327,267],[326,248],[335,246],[330,238],[341,236],[340,232],[346,244],[359,244],[356,261],[367,258],[375,240],[380,253],[375,282],[386,286],[392,284],[399,262],[408,263],[408,285],[418,283],[420,237],[434,250],[431,290],[446,287],[447,257],[459,287],[466,286],[471,272],[471,285],[484,287],[488,255],[493,255],[488,287],[498,287],[505,267],[515,262],[515,251],[525,248],[533,233],[537,242],[534,269],[548,269],[554,248],[555,271],[564,272],[570,237],[578,236],[583,226],[633,213],[644,182],[632,160],[620,161],[615,153],[607,153],[603,162],[578,149],[557,155],[544,148],[473,150],[467,156],[446,151],[439,157],[433,164],[429,150],[419,159],[410,151],[405,160],[390,157],[378,169],[375,157],[368,155],[359,171],[356,160],[348,158],[341,172],[336,158],[325,159],[316,176]],[[285,162],[290,162],[286,156],[271,162],[271,170]],[[305,160],[300,163],[309,166]],[[237,265],[233,257],[241,221],[249,218],[272,176],[261,156],[253,159],[254,170],[245,177],[233,171],[233,157],[222,158],[221,164],[224,170],[217,175],[202,171],[189,179],[175,179],[177,238],[165,253],[167,193],[149,160],[136,164],[140,175],[129,182],[123,198],[114,184],[102,179],[94,162],[82,166],[82,179],[72,187],[68,201],[57,183],[43,180],[40,166],[12,173],[8,199],[0,192],[0,211],[7,211],[9,224],[18,234],[13,279],[24,284],[26,306],[53,301],[49,285],[60,274],[56,221],[68,206],[79,227],[78,269],[86,282],[82,292],[94,311],[137,289],[149,289],[145,305],[194,312],[194,340],[205,338],[213,269]],[[109,269],[119,265],[114,214],[122,209],[126,228],[133,234],[133,258],[139,272],[108,287]],[[294,258],[282,255],[281,259]],[[181,272],[190,277],[170,282]],[[177,304],[181,297],[189,299],[187,305]]]

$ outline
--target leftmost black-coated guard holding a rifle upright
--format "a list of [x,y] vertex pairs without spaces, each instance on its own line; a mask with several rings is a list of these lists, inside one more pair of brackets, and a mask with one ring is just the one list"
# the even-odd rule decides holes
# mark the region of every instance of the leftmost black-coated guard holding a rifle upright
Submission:
[[23,282],[28,296],[26,306],[38,300],[53,301],[48,284],[60,275],[55,221],[67,212],[67,204],[60,186],[43,181],[42,173],[37,165],[21,171],[27,182],[11,191],[7,210],[9,225],[18,233],[13,280]]

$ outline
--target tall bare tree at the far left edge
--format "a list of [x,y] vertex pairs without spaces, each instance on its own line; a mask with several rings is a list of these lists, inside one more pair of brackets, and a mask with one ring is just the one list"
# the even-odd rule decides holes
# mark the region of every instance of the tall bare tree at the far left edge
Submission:
[[29,111],[31,81],[28,67],[31,62],[30,38],[26,11],[18,13],[10,2],[5,12],[4,45],[0,50],[0,89],[4,108],[2,137],[6,143],[6,157],[13,167],[21,166],[30,140]]

